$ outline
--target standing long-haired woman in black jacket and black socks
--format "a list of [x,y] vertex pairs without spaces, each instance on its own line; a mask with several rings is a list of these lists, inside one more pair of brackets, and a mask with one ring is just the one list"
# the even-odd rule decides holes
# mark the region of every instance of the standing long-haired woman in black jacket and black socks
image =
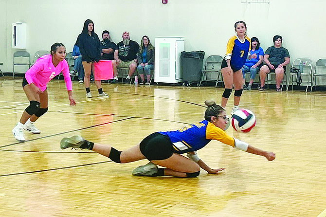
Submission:
[[[98,62],[101,57],[100,39],[94,32],[94,23],[91,19],[87,19],[84,22],[83,31],[79,34],[77,41],[79,43],[80,53],[82,54],[82,64],[85,72],[84,84],[86,88],[86,97],[91,98],[91,71],[94,73],[94,62]],[[98,89],[97,96],[109,97],[108,94],[103,92],[100,80],[95,80],[95,85]]]

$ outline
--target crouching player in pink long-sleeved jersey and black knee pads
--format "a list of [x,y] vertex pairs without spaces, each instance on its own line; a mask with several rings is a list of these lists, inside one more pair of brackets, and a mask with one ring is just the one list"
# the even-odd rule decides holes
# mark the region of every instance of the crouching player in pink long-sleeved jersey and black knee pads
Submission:
[[15,139],[19,142],[25,141],[23,129],[34,134],[40,133],[34,126],[34,122],[48,110],[46,84],[60,72],[66,83],[70,105],[76,105],[72,98],[72,81],[65,56],[65,46],[62,43],[55,43],[51,46],[51,54],[41,56],[25,73],[22,85],[30,105],[24,110],[18,124],[12,130]]

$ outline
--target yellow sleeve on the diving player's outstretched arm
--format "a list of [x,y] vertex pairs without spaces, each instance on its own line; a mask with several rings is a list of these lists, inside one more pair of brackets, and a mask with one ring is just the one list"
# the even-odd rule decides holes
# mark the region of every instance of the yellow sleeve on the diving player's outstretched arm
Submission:
[[227,135],[224,130],[216,127],[210,122],[208,122],[206,127],[206,139],[214,139],[226,145],[230,145],[232,147],[235,146],[235,140],[233,137]]

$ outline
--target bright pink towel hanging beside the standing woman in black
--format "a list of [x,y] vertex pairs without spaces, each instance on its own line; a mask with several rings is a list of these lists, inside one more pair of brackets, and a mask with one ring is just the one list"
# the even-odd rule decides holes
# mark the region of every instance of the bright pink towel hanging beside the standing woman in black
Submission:
[[100,60],[94,63],[94,78],[96,81],[113,79],[111,60]]

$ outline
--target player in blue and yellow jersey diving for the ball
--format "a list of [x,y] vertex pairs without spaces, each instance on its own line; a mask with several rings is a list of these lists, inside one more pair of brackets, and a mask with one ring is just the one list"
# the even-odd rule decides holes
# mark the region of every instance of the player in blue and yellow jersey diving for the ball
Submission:
[[[205,120],[175,131],[152,133],[140,144],[125,151],[118,151],[110,145],[94,144],[84,140],[81,136],[63,138],[60,146],[61,149],[69,147],[88,148],[109,157],[115,163],[130,163],[148,159],[150,163],[134,169],[132,175],[135,176],[192,178],[199,175],[200,168],[210,174],[217,174],[224,168],[210,168],[199,159],[196,153],[211,140],[217,140],[248,153],[264,156],[268,161],[275,159],[273,152],[260,150],[228,136],[223,130],[228,123],[225,110],[216,105],[214,101],[205,101],[205,104],[208,106],[205,111]],[[181,155],[184,153],[187,153],[188,158]],[[157,165],[164,168],[158,168]]]

